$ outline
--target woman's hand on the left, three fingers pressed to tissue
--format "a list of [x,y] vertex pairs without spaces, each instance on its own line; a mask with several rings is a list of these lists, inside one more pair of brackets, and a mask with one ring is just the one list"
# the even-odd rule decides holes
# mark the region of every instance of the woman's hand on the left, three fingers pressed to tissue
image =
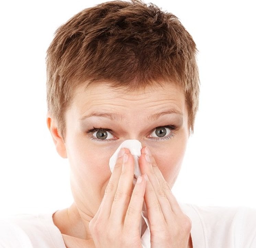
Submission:
[[127,148],[120,154],[101,205],[89,223],[96,248],[142,247],[139,227],[146,180],[139,177],[133,188],[133,156]]

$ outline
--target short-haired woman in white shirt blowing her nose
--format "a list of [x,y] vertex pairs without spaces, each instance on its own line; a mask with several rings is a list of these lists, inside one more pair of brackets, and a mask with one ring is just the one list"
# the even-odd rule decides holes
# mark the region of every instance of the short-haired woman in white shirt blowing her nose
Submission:
[[[195,56],[174,15],[139,1],[102,3],[62,25],[47,51],[47,125],[69,159],[74,203],[8,224],[3,244],[142,247],[144,200],[151,247],[254,247],[255,211],[203,209],[171,192],[198,109]],[[109,170],[127,139],[143,146],[134,187],[129,149]]]

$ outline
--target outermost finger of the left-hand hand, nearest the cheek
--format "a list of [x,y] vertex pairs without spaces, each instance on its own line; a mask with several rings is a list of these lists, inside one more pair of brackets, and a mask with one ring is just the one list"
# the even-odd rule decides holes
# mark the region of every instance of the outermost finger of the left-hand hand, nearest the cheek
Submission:
[[[124,149],[123,151],[125,151],[126,154],[130,152],[129,149],[127,149],[127,148],[122,148],[122,149]],[[109,216],[110,216],[112,203],[113,203],[113,200],[115,197],[119,177],[120,177],[121,171],[122,171],[123,157],[124,156],[117,158],[113,173],[109,178],[109,182],[106,186],[105,193],[104,193],[100,208],[97,212],[98,215],[102,216],[102,218],[109,218]]]

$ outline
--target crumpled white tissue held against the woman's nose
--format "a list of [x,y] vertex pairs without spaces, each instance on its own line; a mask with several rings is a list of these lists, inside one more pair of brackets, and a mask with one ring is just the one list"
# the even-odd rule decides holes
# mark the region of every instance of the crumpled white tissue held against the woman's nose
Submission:
[[[117,158],[118,158],[118,153],[120,151],[121,148],[128,148],[130,150],[130,153],[133,155],[134,158],[134,175],[136,178],[138,178],[139,176],[141,176],[141,171],[140,171],[140,167],[139,167],[139,157],[141,155],[141,142],[137,139],[127,139],[125,140],[114,152],[114,154],[111,156],[111,158],[109,159],[109,168],[110,171],[113,172]],[[133,179],[133,184],[136,183],[136,179]],[[144,221],[147,224],[147,229],[144,232],[144,234],[141,237],[141,244],[143,248],[150,248],[150,228],[149,228],[149,220],[147,218],[147,209],[146,209],[146,204],[143,201],[143,206],[142,206],[142,211],[141,211],[141,216],[144,219]],[[141,227],[142,227],[142,219],[140,222],[140,235],[141,235]]]

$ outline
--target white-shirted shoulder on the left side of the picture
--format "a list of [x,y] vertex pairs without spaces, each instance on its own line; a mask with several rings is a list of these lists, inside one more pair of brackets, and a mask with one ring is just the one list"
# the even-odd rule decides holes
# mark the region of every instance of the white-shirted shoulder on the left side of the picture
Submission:
[[0,247],[65,248],[50,214],[19,214],[0,220]]

